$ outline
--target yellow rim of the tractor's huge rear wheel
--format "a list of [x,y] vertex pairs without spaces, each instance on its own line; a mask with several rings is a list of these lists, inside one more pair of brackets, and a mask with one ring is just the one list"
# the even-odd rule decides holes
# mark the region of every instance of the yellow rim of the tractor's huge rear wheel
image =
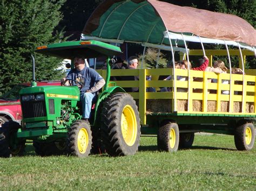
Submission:
[[132,146],[137,137],[137,121],[131,105],[125,105],[122,111],[121,129],[125,143]]

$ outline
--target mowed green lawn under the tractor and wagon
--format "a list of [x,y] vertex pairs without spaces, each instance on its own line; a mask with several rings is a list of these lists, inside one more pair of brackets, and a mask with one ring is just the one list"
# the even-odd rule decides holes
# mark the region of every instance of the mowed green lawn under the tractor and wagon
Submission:
[[129,157],[90,155],[0,159],[0,190],[6,189],[256,189],[255,148],[235,150],[232,136],[196,135],[189,150],[157,151],[156,137],[142,137]]

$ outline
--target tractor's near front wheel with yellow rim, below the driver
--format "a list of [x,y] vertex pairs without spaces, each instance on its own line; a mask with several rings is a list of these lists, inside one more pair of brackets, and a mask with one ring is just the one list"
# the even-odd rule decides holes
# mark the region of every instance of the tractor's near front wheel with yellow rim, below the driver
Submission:
[[69,153],[79,158],[87,157],[91,152],[92,132],[90,124],[84,120],[75,121],[68,132]]

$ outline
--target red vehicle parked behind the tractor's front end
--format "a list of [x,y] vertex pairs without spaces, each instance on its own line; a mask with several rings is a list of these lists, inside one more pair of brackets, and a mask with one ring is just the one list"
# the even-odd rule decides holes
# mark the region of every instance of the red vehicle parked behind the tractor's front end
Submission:
[[[21,123],[22,110],[19,102],[19,90],[29,87],[30,82],[14,86],[10,91],[0,96],[0,127],[7,121]],[[41,81],[37,86],[60,86],[60,81]]]

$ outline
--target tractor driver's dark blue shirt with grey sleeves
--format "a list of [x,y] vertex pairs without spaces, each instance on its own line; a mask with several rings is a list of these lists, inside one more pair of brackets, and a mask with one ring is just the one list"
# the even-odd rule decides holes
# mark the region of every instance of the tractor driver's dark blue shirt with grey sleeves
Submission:
[[[83,88],[80,89],[80,93],[85,93],[86,90],[95,86],[95,83],[97,83],[99,80],[102,80],[103,77],[99,75],[99,73],[97,73],[94,69],[85,67],[81,71],[78,71],[76,68],[71,69],[66,76],[66,79],[73,79],[80,82],[83,86]],[[72,85],[79,86],[79,84],[74,81],[72,81]]]

